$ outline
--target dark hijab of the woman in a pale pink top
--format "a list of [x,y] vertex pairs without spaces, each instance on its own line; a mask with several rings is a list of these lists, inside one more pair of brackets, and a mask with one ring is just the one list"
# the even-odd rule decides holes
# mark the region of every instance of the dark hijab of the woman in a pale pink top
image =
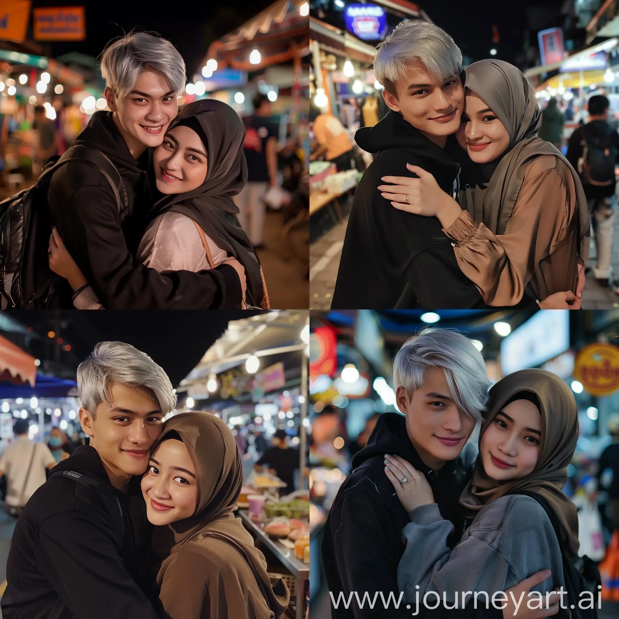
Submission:
[[243,265],[247,278],[246,301],[261,306],[265,290],[262,269],[248,235],[236,218],[239,210],[232,200],[247,181],[243,153],[245,124],[226,103],[201,99],[184,106],[168,131],[181,125],[196,131],[206,148],[206,178],[193,191],[163,196],[156,202],[152,216],[171,211],[196,222],[219,248]]

